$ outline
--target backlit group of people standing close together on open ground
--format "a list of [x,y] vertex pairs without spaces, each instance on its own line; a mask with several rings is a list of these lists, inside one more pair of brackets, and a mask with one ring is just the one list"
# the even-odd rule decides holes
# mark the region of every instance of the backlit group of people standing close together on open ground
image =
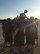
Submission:
[[[16,46],[18,53],[19,51],[21,53],[23,50],[22,48],[29,48],[29,46],[32,46],[33,48],[35,45],[35,40],[38,44],[37,22],[37,18],[34,19],[34,17],[30,17],[29,19],[25,16],[25,13],[21,13],[19,17],[17,16],[13,20],[10,20],[9,18],[7,20],[3,20],[3,37],[5,40],[4,48],[6,47],[7,42],[10,44],[11,48],[12,42],[14,42],[14,46]],[[26,43],[24,42],[25,37]]]

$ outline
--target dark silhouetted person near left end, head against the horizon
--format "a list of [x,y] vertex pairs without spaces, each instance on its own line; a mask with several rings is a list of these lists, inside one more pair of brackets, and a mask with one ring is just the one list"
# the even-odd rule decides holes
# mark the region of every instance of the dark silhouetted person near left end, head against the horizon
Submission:
[[6,23],[6,35],[8,37],[8,42],[11,44],[12,43],[12,22],[8,18],[7,23]]

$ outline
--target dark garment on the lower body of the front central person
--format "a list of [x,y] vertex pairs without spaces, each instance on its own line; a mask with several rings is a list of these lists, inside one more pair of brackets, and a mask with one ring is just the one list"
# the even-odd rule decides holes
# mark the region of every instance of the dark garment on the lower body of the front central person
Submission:
[[14,44],[16,46],[22,46],[22,45],[24,45],[24,32],[23,31],[19,31],[16,34]]

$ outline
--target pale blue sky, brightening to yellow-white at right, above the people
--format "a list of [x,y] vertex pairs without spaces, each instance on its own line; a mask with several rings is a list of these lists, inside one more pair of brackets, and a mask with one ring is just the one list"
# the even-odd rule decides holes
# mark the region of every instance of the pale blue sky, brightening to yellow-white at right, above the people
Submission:
[[40,19],[40,0],[0,0],[0,19],[12,19],[25,9],[28,11],[28,17]]

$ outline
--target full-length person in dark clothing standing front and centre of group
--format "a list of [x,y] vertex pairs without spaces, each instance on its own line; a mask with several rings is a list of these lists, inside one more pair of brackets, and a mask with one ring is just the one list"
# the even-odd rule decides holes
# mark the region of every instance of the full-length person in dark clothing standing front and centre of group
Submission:
[[24,27],[22,22],[19,23],[15,31],[17,32],[15,32],[16,34],[14,35],[14,45],[17,47],[17,52],[22,54],[22,47],[24,46]]

